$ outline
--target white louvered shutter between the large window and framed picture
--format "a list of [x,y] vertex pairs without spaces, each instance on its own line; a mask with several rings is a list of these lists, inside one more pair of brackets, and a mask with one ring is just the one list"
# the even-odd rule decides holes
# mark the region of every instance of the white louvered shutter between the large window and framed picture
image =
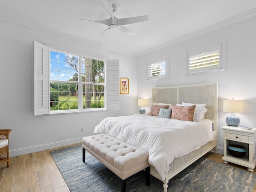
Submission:
[[107,109],[119,109],[119,60],[106,62]]

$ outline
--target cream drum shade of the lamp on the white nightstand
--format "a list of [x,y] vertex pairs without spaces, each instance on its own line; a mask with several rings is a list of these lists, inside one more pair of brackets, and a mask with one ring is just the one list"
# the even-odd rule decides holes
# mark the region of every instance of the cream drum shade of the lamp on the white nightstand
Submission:
[[223,100],[223,112],[243,113],[244,101],[242,100]]

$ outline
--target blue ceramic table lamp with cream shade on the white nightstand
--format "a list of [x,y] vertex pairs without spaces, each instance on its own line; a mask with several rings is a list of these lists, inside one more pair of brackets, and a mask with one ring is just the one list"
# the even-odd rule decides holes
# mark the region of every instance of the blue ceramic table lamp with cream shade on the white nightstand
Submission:
[[236,113],[244,112],[244,101],[242,100],[223,100],[223,112],[230,113],[226,118],[226,123],[229,126],[238,126],[240,119]]

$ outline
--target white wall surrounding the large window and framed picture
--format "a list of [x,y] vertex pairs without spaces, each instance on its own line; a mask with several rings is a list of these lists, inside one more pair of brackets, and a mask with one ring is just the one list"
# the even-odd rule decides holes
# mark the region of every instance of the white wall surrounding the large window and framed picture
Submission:
[[[95,44],[33,27],[0,20],[0,128],[12,129],[10,156],[27,154],[82,141],[107,116],[137,112],[136,57],[104,49]],[[79,114],[33,116],[32,50],[33,40],[52,48],[88,53],[120,60],[120,77],[130,79],[130,94],[120,95],[120,110]],[[125,101],[125,102],[124,102]],[[84,127],[84,132],[81,128]]]

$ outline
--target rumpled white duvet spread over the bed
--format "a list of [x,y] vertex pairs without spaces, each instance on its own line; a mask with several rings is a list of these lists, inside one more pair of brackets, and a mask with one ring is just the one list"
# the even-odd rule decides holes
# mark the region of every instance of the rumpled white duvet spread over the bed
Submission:
[[108,117],[94,129],[149,152],[148,162],[162,180],[169,164],[214,140],[212,122],[189,122],[150,115]]

